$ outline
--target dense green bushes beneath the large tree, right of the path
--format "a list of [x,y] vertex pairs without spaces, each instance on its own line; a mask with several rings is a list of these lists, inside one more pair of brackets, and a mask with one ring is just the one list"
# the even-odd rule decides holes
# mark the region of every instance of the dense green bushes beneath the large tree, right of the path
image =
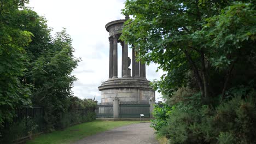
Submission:
[[237,96],[216,109],[207,105],[197,107],[193,103],[177,103],[172,107],[165,127],[154,128],[173,144],[256,143],[254,97],[255,94],[248,98]]

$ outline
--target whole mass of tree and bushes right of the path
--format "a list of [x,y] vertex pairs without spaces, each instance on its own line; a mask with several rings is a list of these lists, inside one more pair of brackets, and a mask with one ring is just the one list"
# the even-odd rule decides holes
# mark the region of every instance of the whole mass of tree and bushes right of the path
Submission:
[[152,126],[170,143],[255,143],[255,3],[126,1],[121,39],[166,71]]

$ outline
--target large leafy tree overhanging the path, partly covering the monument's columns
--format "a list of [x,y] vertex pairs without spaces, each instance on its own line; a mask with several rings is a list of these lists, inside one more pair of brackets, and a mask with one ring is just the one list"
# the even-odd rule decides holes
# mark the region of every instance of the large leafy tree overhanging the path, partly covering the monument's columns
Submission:
[[168,97],[194,79],[203,103],[211,104],[255,77],[234,76],[240,68],[255,68],[255,1],[127,0],[123,14],[134,19],[125,23],[121,39],[135,45],[139,59],[167,71],[155,86]]

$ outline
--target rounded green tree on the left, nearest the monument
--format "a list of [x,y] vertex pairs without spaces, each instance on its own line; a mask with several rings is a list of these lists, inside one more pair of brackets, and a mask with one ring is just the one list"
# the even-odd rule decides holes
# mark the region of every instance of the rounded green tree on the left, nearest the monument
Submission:
[[72,39],[63,29],[55,35],[50,49],[33,62],[32,102],[44,107],[47,129],[58,127],[63,113],[68,110],[68,98],[73,96],[71,88],[77,79],[71,73],[79,62],[73,52]]

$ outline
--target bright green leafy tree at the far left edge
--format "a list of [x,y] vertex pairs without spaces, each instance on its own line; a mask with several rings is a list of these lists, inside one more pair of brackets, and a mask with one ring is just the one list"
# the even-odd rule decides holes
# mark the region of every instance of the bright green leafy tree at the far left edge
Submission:
[[[15,116],[19,106],[30,105],[30,88],[22,85],[27,57],[24,49],[31,42],[33,34],[21,29],[22,20],[19,8],[28,1],[0,1],[0,128]],[[27,23],[33,23],[28,21]]]

